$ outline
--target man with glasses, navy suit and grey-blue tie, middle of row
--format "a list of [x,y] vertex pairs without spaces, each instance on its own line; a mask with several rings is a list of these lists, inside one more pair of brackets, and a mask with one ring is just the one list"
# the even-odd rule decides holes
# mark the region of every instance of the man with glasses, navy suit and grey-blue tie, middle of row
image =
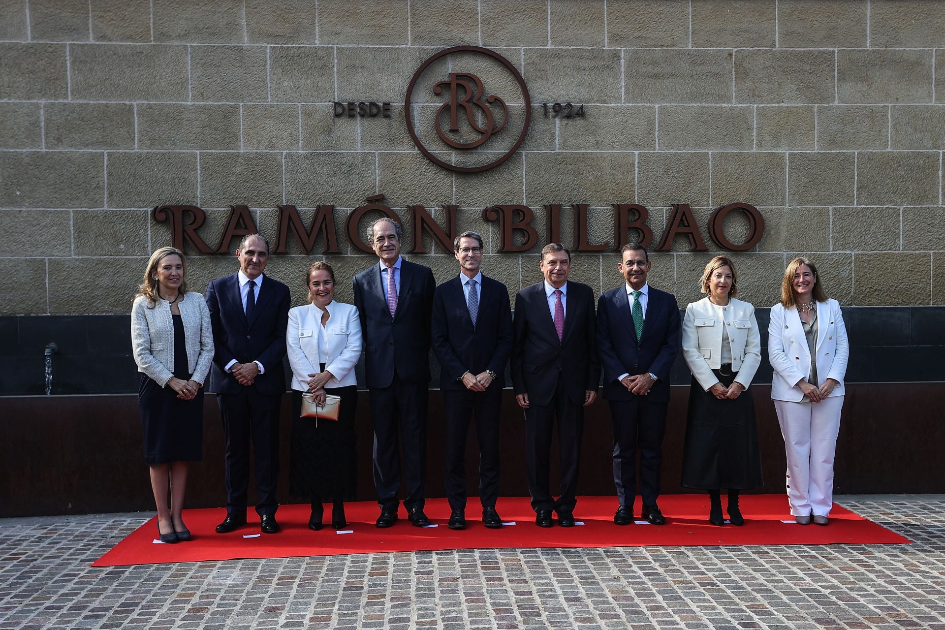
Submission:
[[512,349],[506,285],[482,275],[482,237],[466,231],[453,243],[459,275],[433,295],[430,341],[439,361],[446,417],[446,497],[450,529],[466,529],[466,435],[475,415],[479,438],[479,501],[486,527],[500,529],[499,409]]

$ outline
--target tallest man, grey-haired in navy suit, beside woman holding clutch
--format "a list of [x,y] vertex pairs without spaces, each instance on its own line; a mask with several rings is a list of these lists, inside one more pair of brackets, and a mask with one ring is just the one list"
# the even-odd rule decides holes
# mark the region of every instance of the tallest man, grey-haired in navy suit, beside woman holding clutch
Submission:
[[430,313],[437,284],[429,267],[401,257],[399,223],[379,219],[371,226],[369,238],[380,261],[354,277],[354,305],[361,315],[374,422],[374,487],[381,505],[376,525],[390,527],[397,520],[400,441],[407,490],[404,507],[410,522],[423,527],[430,524],[423,514],[423,484]]

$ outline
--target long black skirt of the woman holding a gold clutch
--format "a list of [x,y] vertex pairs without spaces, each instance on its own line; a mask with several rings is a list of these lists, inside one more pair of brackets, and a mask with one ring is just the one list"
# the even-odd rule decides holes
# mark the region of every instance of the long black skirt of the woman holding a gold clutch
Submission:
[[301,392],[292,391],[289,494],[304,501],[348,501],[357,489],[357,386],[326,387],[325,393],[341,397],[337,422],[300,417]]

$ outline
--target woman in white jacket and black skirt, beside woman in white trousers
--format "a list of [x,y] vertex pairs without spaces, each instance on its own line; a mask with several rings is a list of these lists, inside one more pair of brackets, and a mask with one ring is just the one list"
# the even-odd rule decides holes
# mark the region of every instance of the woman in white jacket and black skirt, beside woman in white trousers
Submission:
[[723,525],[721,489],[732,525],[745,524],[741,490],[762,485],[755,406],[748,386],[761,364],[755,309],[735,299],[735,264],[716,256],[702,272],[708,297],[686,307],[682,354],[693,373],[682,453],[682,485],[709,491],[709,522]]

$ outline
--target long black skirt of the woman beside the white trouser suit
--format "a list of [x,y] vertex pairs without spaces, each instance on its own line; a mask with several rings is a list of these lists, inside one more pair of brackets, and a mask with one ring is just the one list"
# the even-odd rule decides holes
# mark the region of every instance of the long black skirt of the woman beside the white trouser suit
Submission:
[[[735,374],[713,372],[726,387],[735,380]],[[764,485],[750,388],[735,400],[718,400],[693,377],[682,451],[682,485],[709,490],[749,490]]]

